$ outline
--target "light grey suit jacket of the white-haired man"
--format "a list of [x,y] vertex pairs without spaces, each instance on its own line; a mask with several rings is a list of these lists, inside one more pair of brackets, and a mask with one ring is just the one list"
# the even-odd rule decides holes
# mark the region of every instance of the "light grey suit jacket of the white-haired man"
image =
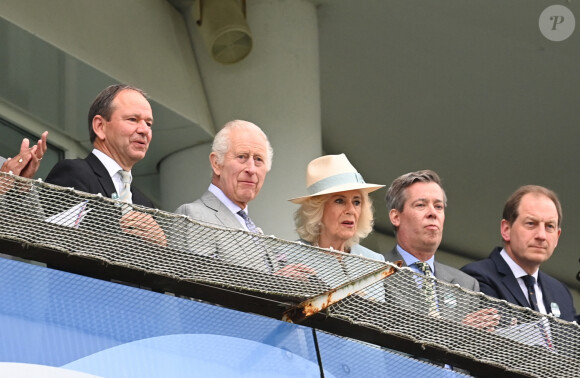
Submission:
[[265,273],[275,269],[266,243],[255,234],[245,231],[236,215],[210,191],[206,191],[195,202],[179,206],[175,212],[199,222],[226,228],[219,230],[189,224],[188,232],[185,233],[184,247],[187,250]]

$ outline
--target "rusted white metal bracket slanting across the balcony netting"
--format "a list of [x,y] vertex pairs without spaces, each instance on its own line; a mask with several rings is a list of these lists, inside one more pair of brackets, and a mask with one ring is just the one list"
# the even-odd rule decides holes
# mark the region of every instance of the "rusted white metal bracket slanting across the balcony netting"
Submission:
[[357,291],[363,290],[364,288],[389,277],[391,274],[394,274],[398,270],[395,265],[400,268],[403,265],[403,262],[398,260],[394,262],[394,265],[392,263],[387,263],[384,267],[368,273],[358,280],[349,281],[335,289],[309,298],[299,305],[285,311],[282,320],[288,323],[299,323]]

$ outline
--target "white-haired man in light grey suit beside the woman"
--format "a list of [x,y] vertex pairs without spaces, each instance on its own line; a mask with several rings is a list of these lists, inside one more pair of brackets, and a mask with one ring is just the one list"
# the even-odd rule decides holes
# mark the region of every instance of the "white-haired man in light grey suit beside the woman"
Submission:
[[258,126],[240,120],[224,125],[216,134],[209,155],[212,180],[208,191],[200,199],[179,206],[176,213],[230,230],[212,233],[192,227],[186,248],[230,264],[265,272],[274,269],[263,244],[256,245],[259,238],[231,230],[261,233],[249,220],[247,205],[260,192],[272,166],[272,155],[268,137]]

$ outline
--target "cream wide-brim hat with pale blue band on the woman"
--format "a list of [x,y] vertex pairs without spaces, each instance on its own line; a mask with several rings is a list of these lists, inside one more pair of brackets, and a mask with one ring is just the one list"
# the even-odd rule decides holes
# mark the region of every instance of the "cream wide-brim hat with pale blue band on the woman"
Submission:
[[344,154],[325,155],[312,160],[306,168],[307,196],[288,201],[302,203],[306,199],[323,194],[362,190],[370,193],[384,185],[367,184]]

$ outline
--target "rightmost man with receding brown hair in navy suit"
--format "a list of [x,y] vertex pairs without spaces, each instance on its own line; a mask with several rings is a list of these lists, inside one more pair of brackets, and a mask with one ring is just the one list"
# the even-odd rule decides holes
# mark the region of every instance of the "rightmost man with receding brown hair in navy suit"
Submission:
[[[558,245],[561,224],[562,207],[556,193],[541,186],[522,186],[504,206],[503,248],[495,248],[489,258],[461,270],[477,279],[480,290],[487,295],[574,321],[576,310],[570,290],[540,270]],[[533,285],[532,296],[527,280]]]

